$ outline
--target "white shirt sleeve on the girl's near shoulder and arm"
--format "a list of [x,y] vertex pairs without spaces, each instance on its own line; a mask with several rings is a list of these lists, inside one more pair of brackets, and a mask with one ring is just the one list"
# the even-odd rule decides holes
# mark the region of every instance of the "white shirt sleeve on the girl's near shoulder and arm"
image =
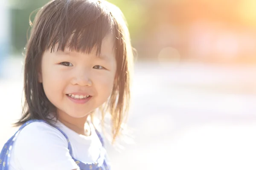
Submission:
[[10,165],[19,170],[79,169],[70,156],[65,136],[44,122],[32,122],[24,127],[11,153]]

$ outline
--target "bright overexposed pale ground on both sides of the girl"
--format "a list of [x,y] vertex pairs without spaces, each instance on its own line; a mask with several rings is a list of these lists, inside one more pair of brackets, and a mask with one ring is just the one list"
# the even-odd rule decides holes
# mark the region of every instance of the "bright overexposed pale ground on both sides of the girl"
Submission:
[[[0,145],[20,116],[21,61],[0,79]],[[134,144],[108,146],[113,170],[256,169],[256,66],[138,62],[132,93]]]

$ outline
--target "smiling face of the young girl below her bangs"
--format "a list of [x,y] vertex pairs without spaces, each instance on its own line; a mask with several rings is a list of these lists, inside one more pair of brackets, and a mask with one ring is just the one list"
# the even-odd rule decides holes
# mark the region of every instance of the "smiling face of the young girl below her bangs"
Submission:
[[58,114],[81,118],[107,101],[116,75],[113,46],[113,35],[109,34],[102,41],[100,56],[95,50],[90,54],[68,49],[44,52],[39,82]]

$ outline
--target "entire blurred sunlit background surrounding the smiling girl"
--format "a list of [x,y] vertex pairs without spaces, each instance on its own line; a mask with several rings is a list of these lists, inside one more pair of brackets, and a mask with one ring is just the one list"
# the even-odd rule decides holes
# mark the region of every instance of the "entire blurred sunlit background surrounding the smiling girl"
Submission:
[[[29,14],[0,0],[0,146],[21,114]],[[109,0],[137,49],[128,125],[113,170],[256,169],[256,1]]]

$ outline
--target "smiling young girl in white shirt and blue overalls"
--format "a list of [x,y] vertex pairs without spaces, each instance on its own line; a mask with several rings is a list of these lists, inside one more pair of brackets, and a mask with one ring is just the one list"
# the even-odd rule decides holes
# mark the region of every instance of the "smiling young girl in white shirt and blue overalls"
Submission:
[[114,141],[133,60],[122,12],[103,0],[52,0],[30,25],[25,107],[0,170],[109,170],[93,115],[111,115]]

